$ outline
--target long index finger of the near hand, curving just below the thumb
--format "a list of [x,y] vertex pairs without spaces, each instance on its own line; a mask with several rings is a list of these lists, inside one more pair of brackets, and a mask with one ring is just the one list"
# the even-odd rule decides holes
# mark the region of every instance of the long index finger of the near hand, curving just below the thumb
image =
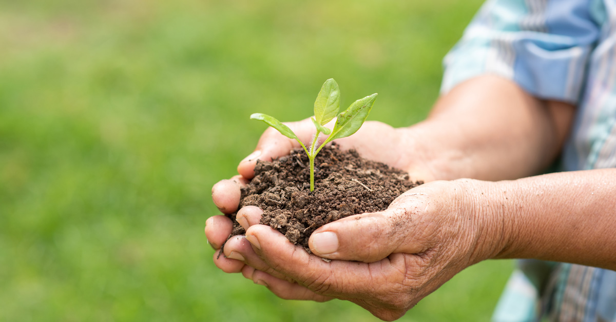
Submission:
[[[246,231],[246,239],[256,254],[277,272],[298,281],[317,294],[345,296],[374,292],[389,284],[387,276],[403,275],[400,264],[389,260],[372,264],[334,260],[325,262],[311,256],[301,246],[294,246],[280,232],[265,225],[254,225]],[[403,276],[394,277],[402,280]]]

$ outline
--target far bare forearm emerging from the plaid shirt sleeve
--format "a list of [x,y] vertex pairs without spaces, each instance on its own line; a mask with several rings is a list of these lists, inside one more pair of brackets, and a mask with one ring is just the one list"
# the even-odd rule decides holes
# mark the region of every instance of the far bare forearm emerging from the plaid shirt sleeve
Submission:
[[553,162],[572,117],[571,105],[542,102],[511,81],[480,76],[456,86],[426,121],[402,131],[428,151],[434,179],[505,180],[537,174]]

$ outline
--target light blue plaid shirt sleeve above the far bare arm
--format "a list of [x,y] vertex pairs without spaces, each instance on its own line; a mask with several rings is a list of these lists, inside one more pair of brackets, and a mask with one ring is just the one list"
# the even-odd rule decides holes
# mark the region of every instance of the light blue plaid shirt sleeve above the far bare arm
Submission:
[[445,56],[441,94],[496,74],[540,99],[577,103],[601,32],[596,2],[488,0]]

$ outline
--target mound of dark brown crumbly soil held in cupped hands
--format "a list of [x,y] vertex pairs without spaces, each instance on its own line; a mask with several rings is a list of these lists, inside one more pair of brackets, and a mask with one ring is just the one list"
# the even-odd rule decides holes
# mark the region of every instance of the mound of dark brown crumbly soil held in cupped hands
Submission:
[[[355,150],[336,145],[323,148],[315,159],[315,190],[310,192],[308,156],[302,149],[273,162],[257,161],[255,177],[241,189],[240,208],[263,209],[261,223],[304,246],[326,223],[364,212],[383,211],[394,199],[423,182],[383,163],[360,158]],[[245,233],[235,215],[232,236]]]

